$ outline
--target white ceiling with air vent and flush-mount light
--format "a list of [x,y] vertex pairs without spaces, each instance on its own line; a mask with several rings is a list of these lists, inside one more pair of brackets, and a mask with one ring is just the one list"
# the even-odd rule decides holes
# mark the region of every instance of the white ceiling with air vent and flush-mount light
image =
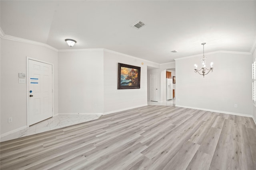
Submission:
[[[6,35],[70,49],[106,48],[156,63],[212,51],[250,52],[256,1],[0,1]],[[131,27],[142,21],[141,29]],[[171,53],[171,51],[178,53]]]

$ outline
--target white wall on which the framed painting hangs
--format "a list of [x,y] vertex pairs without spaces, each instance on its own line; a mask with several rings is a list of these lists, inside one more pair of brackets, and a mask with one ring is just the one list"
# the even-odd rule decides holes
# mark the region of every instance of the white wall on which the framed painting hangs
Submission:
[[[118,63],[140,67],[140,89],[117,89]],[[104,113],[147,105],[147,66],[151,64],[142,59],[104,51]]]

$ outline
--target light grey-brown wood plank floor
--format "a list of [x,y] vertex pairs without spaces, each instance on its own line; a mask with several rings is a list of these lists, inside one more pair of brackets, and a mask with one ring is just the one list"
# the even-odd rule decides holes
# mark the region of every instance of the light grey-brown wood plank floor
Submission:
[[145,106],[0,143],[1,170],[256,170],[250,117]]

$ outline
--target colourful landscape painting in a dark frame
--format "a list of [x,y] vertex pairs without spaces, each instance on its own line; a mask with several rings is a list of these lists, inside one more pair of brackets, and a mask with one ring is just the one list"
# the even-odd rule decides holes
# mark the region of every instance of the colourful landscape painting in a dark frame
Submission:
[[140,67],[118,63],[118,88],[140,88]]

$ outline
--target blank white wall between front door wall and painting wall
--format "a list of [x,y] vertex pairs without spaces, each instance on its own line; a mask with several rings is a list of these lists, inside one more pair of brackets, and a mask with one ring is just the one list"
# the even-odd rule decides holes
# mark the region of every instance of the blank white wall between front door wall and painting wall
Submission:
[[59,113],[103,113],[103,49],[59,52]]

